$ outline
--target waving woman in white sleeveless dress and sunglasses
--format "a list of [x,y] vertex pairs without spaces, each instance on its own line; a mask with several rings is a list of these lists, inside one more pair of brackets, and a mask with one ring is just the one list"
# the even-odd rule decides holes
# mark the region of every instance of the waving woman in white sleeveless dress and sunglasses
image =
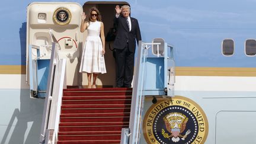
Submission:
[[[85,21],[85,12],[81,17],[81,32],[88,30],[88,36],[85,40],[79,72],[87,73],[88,88],[96,88],[98,73],[106,73],[104,24],[97,8],[91,8],[89,21]],[[91,83],[92,75],[93,82]]]

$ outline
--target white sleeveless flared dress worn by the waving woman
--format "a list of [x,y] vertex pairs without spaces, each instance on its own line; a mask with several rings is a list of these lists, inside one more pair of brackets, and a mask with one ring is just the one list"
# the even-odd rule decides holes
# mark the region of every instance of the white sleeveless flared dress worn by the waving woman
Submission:
[[85,40],[79,72],[106,73],[103,44],[100,39],[100,21],[89,22],[88,36]]

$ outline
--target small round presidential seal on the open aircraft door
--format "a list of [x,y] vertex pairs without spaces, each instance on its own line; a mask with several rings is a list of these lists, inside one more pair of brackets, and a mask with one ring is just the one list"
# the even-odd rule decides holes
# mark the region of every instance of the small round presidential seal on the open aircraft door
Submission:
[[69,24],[71,21],[71,12],[68,8],[59,7],[53,14],[53,20],[59,25]]

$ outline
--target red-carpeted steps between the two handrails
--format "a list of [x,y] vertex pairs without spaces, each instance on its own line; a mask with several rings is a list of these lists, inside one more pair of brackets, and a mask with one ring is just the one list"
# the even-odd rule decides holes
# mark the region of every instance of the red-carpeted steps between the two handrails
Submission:
[[132,88],[63,89],[58,144],[120,143]]

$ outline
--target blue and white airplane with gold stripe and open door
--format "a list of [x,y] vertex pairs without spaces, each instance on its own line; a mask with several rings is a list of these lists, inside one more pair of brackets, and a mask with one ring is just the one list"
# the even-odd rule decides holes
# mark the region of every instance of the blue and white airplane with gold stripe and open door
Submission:
[[[88,80],[78,72],[87,36],[81,13],[97,7],[106,36],[116,5],[130,5],[142,34],[121,143],[256,143],[255,1],[15,3],[3,1],[0,10],[1,144],[56,143],[57,132],[46,135],[53,52],[64,59],[58,86],[82,89]],[[70,21],[57,21],[59,11]],[[115,87],[112,44],[106,42],[107,73],[98,76],[97,89]]]

